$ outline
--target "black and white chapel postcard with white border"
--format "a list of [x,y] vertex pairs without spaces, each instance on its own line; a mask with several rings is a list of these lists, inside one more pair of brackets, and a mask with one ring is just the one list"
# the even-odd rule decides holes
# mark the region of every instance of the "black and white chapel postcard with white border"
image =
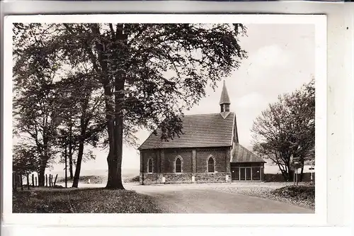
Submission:
[[326,222],[326,16],[11,16],[5,36],[4,223]]

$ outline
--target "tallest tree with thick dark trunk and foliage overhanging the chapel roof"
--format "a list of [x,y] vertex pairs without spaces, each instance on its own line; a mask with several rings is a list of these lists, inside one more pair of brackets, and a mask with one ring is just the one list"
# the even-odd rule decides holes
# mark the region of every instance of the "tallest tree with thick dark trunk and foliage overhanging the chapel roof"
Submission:
[[241,24],[55,24],[52,42],[72,66],[90,64],[101,85],[109,153],[107,188],[123,189],[122,143],[139,128],[181,133],[183,110],[246,57]]

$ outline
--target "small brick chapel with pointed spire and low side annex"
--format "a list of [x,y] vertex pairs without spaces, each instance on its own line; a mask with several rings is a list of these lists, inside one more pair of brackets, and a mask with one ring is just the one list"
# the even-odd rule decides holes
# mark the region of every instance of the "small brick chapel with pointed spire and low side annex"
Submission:
[[161,140],[161,130],[138,148],[140,184],[263,181],[264,160],[239,144],[236,114],[222,87],[219,113],[183,116],[182,134]]

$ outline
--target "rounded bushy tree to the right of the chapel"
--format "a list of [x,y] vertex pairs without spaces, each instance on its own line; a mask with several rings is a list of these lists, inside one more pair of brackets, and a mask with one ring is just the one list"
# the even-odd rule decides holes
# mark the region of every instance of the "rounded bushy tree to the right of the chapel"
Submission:
[[286,180],[292,179],[292,158],[299,158],[302,166],[314,160],[314,112],[312,79],[302,89],[279,96],[253,122],[253,150],[277,164]]

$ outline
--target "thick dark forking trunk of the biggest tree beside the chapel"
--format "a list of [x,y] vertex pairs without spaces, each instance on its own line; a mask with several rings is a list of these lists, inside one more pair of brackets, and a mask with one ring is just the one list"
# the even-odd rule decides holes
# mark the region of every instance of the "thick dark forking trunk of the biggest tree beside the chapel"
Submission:
[[[101,35],[100,28],[97,24],[91,26],[94,35]],[[114,30],[113,30],[114,31]],[[120,61],[125,62],[124,57],[126,57],[126,45],[127,45],[127,35],[123,33],[123,24],[117,25],[116,32],[112,32],[115,39],[113,48],[117,50],[114,51],[113,57],[119,58]],[[116,43],[116,41],[120,43]],[[122,45],[125,44],[125,45]],[[123,131],[123,117],[122,117],[122,100],[124,99],[124,84],[125,84],[125,67],[121,66],[117,68],[113,76],[108,72],[108,66],[105,62],[105,47],[103,44],[96,43],[96,49],[98,52],[98,62],[101,64],[101,74],[103,77],[101,82],[103,84],[104,94],[105,94],[105,113],[107,119],[107,130],[108,130],[108,140],[110,145],[110,151],[107,157],[108,163],[108,181],[107,189],[124,189],[122,185],[122,131]],[[92,53],[88,48],[89,53]],[[98,70],[98,67],[96,67]],[[114,69],[115,70],[115,69]],[[97,71],[99,72],[99,71]],[[113,94],[110,87],[110,79],[114,78],[114,108],[111,105],[113,101]],[[113,115],[114,114],[114,115]]]

